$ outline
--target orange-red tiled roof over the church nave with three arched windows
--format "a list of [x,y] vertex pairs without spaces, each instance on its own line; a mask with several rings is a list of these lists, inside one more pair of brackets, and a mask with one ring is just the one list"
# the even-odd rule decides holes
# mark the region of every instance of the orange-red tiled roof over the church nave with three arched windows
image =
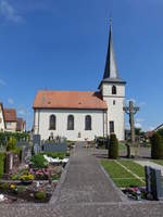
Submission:
[[108,110],[100,92],[38,91],[34,108]]

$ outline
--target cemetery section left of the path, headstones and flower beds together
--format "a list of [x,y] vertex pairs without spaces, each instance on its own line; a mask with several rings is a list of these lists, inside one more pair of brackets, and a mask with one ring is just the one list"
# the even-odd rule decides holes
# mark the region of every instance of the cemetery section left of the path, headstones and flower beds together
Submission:
[[[0,203],[47,203],[68,162],[71,142],[3,135],[0,150]],[[60,139],[60,141],[59,141]],[[48,142],[48,141],[47,141]],[[46,148],[46,145],[47,148]]]

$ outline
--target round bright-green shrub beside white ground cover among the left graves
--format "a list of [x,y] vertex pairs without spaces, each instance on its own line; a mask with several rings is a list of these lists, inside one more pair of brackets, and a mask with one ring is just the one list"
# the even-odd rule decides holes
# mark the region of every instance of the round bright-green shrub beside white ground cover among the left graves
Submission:
[[41,154],[36,154],[32,157],[32,164],[34,168],[45,168],[48,165],[47,159]]

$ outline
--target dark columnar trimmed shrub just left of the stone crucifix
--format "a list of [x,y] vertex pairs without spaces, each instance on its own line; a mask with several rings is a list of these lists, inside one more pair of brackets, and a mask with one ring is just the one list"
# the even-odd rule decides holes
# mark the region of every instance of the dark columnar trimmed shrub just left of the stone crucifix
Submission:
[[118,140],[116,135],[112,133],[110,138],[109,158],[116,159],[118,157]]

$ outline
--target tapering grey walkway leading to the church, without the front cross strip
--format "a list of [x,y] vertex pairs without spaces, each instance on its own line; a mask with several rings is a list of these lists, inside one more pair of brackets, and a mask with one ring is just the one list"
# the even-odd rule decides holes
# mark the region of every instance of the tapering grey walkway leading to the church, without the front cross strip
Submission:
[[[51,203],[55,201],[55,195]],[[89,149],[78,143],[71,158],[65,181],[60,189],[58,204],[121,202],[121,195],[102,171]]]

